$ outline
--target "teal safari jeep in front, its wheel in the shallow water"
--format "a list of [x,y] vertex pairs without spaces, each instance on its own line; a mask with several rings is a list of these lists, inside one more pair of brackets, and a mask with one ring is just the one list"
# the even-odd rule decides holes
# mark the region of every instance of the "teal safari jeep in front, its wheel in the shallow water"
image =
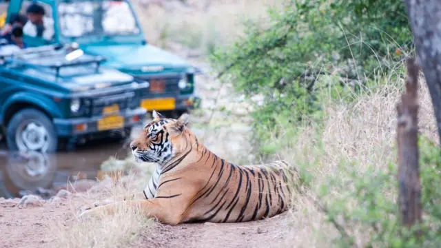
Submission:
[[8,148],[55,152],[59,141],[72,147],[110,132],[130,134],[145,119],[139,104],[148,83],[103,68],[104,61],[77,45],[1,46],[0,126]]

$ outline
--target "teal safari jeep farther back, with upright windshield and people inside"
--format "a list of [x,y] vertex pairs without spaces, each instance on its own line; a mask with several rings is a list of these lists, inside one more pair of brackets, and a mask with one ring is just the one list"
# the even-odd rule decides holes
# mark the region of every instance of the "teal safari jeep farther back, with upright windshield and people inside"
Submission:
[[194,94],[194,74],[199,72],[181,57],[147,43],[130,1],[127,0],[14,0],[11,14],[26,14],[31,3],[45,9],[45,32],[27,32],[28,46],[54,43],[79,44],[88,54],[105,57],[103,66],[148,81],[147,95],[140,103],[147,111],[161,110],[178,116],[194,108],[201,99]]

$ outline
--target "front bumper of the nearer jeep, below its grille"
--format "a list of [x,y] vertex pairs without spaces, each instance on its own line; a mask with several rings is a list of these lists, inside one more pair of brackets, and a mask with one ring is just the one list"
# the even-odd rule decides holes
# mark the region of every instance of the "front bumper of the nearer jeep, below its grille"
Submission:
[[[147,111],[142,107],[137,107],[134,110],[127,110],[120,112],[119,116],[124,119],[123,127],[132,127],[137,124],[142,124],[145,120]],[[93,116],[90,118],[54,118],[54,126],[60,137],[81,136],[83,134],[93,134],[98,132],[107,132],[109,130],[98,130],[98,121],[105,116]],[[80,130],[77,127],[82,126]],[[110,130],[119,130],[121,128],[114,128]]]

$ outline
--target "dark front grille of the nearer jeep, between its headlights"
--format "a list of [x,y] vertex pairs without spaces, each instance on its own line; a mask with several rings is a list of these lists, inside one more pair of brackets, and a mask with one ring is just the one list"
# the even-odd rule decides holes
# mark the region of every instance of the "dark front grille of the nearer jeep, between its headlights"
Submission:
[[134,97],[134,92],[114,94],[110,96],[101,96],[92,99],[91,114],[92,116],[103,114],[104,107],[117,104],[119,111],[124,111],[130,108],[130,101]]

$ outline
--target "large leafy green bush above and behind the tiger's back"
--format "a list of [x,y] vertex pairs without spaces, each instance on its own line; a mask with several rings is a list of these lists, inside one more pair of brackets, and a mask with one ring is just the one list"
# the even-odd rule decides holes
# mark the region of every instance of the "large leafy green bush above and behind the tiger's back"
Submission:
[[320,118],[322,89],[352,96],[411,48],[401,0],[288,0],[269,10],[265,28],[246,26],[245,36],[211,59],[238,92],[263,95],[253,113],[258,141],[268,138],[274,113],[294,122]]

